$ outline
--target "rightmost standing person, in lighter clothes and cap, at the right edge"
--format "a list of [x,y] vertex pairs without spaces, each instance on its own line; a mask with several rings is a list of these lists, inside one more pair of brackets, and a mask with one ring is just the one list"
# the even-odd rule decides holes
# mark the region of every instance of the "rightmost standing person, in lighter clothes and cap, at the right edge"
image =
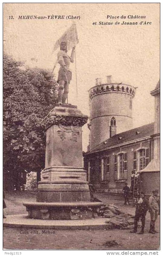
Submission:
[[153,193],[153,195],[150,196],[150,198],[149,198],[149,212],[151,215],[151,223],[150,223],[149,233],[155,234],[155,233],[158,233],[155,230],[155,221],[157,220],[158,212],[159,212],[158,190],[157,189],[153,190],[152,193]]

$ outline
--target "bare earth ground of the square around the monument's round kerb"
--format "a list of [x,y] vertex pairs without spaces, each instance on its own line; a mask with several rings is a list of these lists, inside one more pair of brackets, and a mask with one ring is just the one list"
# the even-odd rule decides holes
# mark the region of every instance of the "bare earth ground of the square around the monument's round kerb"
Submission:
[[[120,210],[134,214],[135,207],[123,206],[123,201],[109,199],[109,195],[96,194],[105,203],[114,203]],[[35,201],[35,194],[27,192],[6,194],[5,214],[24,214],[24,201]],[[65,249],[65,250],[157,250],[160,244],[160,234],[149,234],[150,215],[147,212],[145,234],[131,234],[130,230],[56,230],[54,234],[42,234],[42,229],[26,229],[29,234],[21,234],[21,228],[4,227],[5,249]],[[156,222],[159,231],[160,218]],[[25,231],[25,229],[23,229]],[[39,234],[31,234],[38,231]],[[46,230],[47,231],[47,230]],[[51,230],[49,230],[51,231]],[[36,232],[35,232],[36,233]],[[109,247],[105,243],[115,240],[118,245]]]

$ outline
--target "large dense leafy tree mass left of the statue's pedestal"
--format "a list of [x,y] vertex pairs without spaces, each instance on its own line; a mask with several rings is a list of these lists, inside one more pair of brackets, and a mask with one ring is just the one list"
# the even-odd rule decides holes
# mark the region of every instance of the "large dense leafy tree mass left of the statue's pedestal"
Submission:
[[[23,170],[40,171],[45,160],[45,131],[41,120],[57,99],[53,75],[8,55],[3,57],[4,176],[20,186]],[[11,186],[13,187],[13,186]]]

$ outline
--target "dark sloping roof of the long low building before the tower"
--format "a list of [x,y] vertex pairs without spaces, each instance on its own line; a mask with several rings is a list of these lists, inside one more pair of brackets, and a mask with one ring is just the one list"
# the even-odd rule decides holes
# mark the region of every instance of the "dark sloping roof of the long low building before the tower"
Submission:
[[87,151],[86,153],[89,153],[89,152],[91,153],[92,151],[105,149],[111,146],[115,146],[127,141],[136,140],[152,134],[154,134],[154,123],[143,125],[135,129],[116,134],[110,137],[109,139],[107,139],[106,141],[101,142],[99,145],[92,148],[90,151]]

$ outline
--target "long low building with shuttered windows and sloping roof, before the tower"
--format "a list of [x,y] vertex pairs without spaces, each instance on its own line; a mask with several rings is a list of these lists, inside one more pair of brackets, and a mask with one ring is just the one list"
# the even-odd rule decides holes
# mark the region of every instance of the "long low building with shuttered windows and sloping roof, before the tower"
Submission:
[[154,123],[114,135],[84,154],[88,181],[101,191],[121,193],[131,175],[153,158]]

